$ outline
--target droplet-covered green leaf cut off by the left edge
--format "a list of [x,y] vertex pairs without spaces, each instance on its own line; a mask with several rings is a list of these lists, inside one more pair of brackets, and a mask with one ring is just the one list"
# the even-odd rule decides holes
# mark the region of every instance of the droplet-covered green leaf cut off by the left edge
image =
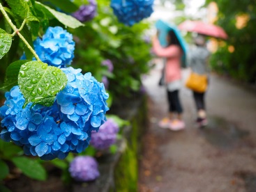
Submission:
[[11,36],[3,29],[0,31],[0,59],[8,53],[10,46],[12,45]]

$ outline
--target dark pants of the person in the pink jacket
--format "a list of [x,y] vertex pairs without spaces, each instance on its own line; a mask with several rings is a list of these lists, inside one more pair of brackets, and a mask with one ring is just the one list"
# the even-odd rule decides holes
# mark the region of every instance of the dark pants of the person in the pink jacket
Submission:
[[182,113],[183,109],[181,102],[179,101],[179,90],[169,91],[167,90],[167,97],[169,102],[169,111]]

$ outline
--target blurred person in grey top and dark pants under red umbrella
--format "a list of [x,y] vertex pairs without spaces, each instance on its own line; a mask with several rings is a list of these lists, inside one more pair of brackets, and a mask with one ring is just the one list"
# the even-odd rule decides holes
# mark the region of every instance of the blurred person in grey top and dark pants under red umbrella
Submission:
[[[188,65],[190,69],[197,74],[205,74],[208,76],[208,60],[210,56],[209,50],[206,48],[206,40],[204,35],[197,35],[194,38],[195,46],[189,51],[189,62]],[[209,77],[208,85],[209,85]],[[208,86],[207,86],[208,87]],[[195,101],[195,107],[197,110],[197,119],[196,123],[199,127],[207,125],[206,118],[206,106],[205,106],[205,94],[198,93],[193,90],[193,99]]]

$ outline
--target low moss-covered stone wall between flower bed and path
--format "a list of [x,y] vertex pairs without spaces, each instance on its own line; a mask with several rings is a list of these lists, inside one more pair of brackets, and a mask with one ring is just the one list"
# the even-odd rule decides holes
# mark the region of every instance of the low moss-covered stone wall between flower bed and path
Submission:
[[137,191],[138,162],[142,149],[141,136],[146,128],[146,95],[121,99],[110,113],[128,120],[129,126],[121,129],[122,138],[116,143],[117,152],[103,153],[98,157],[100,177],[90,183],[75,183],[75,192]]

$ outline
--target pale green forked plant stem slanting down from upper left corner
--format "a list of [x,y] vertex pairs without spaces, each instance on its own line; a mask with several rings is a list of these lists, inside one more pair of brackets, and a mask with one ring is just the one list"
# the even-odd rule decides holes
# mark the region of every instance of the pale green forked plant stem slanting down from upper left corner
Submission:
[[22,39],[22,41],[24,42],[25,45],[27,45],[27,47],[29,48],[29,50],[31,51],[31,53],[33,54],[33,56],[35,56],[37,61],[40,61],[39,56],[36,54],[36,51],[33,50],[33,48],[31,47],[31,45],[29,45],[29,42],[27,42],[27,40],[23,37],[23,35],[21,33],[19,33],[19,30],[21,30],[26,22],[26,19],[24,20],[24,22],[22,22],[22,26],[20,27],[20,29],[17,29],[17,27],[15,26],[15,24],[13,24],[12,20],[10,19],[10,17],[7,15],[6,10],[4,10],[2,4],[0,3],[0,10],[1,13],[3,13],[3,16],[6,18],[6,21],[8,22],[8,24],[10,24],[10,27],[13,29],[13,31],[15,33],[17,33],[17,35]]

